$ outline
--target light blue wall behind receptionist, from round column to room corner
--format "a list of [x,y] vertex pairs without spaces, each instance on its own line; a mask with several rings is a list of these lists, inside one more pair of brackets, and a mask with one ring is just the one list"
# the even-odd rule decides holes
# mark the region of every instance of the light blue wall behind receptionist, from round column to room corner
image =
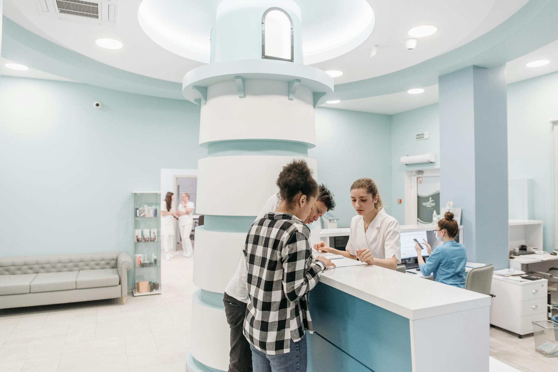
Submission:
[[308,150],[318,160],[318,180],[335,194],[338,227],[349,227],[355,216],[350,185],[360,177],[376,180],[386,212],[395,200],[391,192],[390,116],[368,112],[316,109],[316,147]]

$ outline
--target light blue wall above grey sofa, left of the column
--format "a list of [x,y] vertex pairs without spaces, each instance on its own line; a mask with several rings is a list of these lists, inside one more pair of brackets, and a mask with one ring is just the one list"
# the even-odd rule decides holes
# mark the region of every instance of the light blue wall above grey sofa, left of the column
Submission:
[[206,155],[186,101],[3,76],[0,112],[0,256],[132,253],[132,191]]

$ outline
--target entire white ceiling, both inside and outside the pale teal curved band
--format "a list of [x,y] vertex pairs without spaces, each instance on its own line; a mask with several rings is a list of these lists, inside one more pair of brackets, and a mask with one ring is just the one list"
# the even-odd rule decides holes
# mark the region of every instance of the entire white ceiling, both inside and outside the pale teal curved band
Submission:
[[[387,74],[447,52],[483,35],[527,2],[527,0],[367,1],[373,7],[376,16],[376,26],[372,35],[353,51],[315,65],[323,70],[344,71],[343,76],[335,78],[336,84]],[[140,3],[141,0],[119,1],[117,28],[41,17],[35,0],[4,0],[4,14],[47,40],[136,74],[178,82],[187,71],[203,65],[167,51],[147,37],[138,23]],[[209,3],[217,4],[217,0],[208,0],[207,3],[196,1],[192,4],[203,10],[210,5]],[[201,17],[201,19],[207,22],[207,18]],[[419,39],[419,45],[415,50],[405,50],[403,41],[408,37],[406,34],[408,29],[425,23],[438,26],[439,32]],[[105,50],[95,45],[94,40],[97,37],[117,38],[124,43],[124,47],[116,51]],[[375,57],[370,57],[372,45],[377,45]],[[551,63],[536,68],[525,66],[527,62],[540,59],[550,60]],[[27,71],[10,70],[4,66],[9,61],[2,59],[1,62],[0,74],[2,75],[69,81],[31,68]],[[507,63],[508,83],[554,71],[558,71],[558,41]],[[437,85],[423,88],[425,92],[417,95],[398,92],[321,106],[396,114],[438,101]]]

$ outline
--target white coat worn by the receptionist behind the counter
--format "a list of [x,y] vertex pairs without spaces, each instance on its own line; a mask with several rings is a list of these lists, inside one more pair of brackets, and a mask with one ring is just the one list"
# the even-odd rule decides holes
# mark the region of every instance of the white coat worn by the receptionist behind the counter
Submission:
[[357,249],[368,248],[374,258],[395,256],[401,263],[399,223],[382,208],[364,232],[364,218],[354,216],[350,222],[349,242],[345,250],[357,256]]

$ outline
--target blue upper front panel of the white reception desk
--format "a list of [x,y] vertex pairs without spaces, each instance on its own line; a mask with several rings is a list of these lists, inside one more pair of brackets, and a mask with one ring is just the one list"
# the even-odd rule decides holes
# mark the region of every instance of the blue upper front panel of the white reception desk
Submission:
[[[318,283],[310,292],[310,314],[319,336],[367,369],[374,372],[412,370],[411,331],[407,318],[324,283]],[[321,353],[309,353],[309,359],[314,355],[323,358]],[[309,363],[315,365],[312,360]]]

